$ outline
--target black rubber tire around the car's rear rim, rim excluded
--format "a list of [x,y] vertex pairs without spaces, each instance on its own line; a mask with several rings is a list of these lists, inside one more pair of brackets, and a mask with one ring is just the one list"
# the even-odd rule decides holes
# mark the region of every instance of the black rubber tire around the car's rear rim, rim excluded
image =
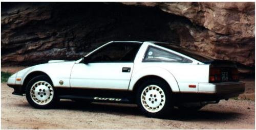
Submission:
[[[142,105],[142,102],[141,102],[141,94],[142,94],[142,91],[147,87],[147,86],[150,86],[150,85],[156,85],[158,87],[160,87],[164,94],[165,94],[165,103],[162,107],[162,109],[158,112],[149,112],[147,111],[143,105]],[[138,90],[137,90],[137,94],[136,94],[136,102],[137,102],[137,105],[139,107],[139,109],[141,110],[141,112],[148,116],[148,117],[164,117],[164,116],[167,116],[169,115],[174,106],[174,102],[173,102],[173,97],[172,97],[172,90],[170,89],[169,85],[163,81],[163,80],[160,80],[160,79],[151,79],[151,80],[147,80],[145,81],[144,83],[142,83]]]

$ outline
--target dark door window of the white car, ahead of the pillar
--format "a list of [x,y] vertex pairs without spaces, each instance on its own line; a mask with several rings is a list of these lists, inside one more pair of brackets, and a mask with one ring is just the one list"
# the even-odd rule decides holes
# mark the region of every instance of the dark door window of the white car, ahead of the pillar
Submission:
[[137,43],[111,43],[92,54],[90,62],[133,62],[140,46]]

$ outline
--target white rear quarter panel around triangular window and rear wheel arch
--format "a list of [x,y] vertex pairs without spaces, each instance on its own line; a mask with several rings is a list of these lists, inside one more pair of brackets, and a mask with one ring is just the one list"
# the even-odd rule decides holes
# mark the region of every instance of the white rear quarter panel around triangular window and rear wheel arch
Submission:
[[[152,43],[144,42],[137,53],[129,90],[132,90],[137,80],[145,75],[162,77],[173,92],[198,92],[199,83],[208,83],[209,64],[203,64],[194,59],[191,59],[193,60],[192,63],[143,62],[145,51],[149,45],[156,46]],[[163,47],[159,48],[174,53],[172,50]],[[179,55],[177,52],[176,54]],[[188,58],[184,55],[180,56]],[[189,88],[189,85],[196,85],[196,87]]]

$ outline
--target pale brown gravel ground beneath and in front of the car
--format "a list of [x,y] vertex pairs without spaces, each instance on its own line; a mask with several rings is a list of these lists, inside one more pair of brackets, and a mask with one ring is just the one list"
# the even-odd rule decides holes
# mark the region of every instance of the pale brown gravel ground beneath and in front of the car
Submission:
[[1,84],[2,129],[254,129],[255,103],[221,100],[200,111],[175,111],[165,119],[143,116],[135,105],[92,103],[81,105],[61,100],[49,110],[32,108],[25,96],[12,95]]

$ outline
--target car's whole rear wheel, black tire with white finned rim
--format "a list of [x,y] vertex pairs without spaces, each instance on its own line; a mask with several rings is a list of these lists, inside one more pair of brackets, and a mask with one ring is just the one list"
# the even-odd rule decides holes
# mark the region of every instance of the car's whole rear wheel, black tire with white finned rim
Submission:
[[168,114],[173,109],[172,91],[162,80],[150,80],[142,83],[137,91],[137,105],[150,117]]

